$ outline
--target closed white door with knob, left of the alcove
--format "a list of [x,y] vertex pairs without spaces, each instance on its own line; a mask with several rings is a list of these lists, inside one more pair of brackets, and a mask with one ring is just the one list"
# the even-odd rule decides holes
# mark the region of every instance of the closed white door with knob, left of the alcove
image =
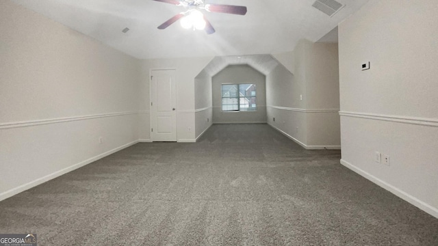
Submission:
[[151,71],[151,139],[177,141],[175,70]]

